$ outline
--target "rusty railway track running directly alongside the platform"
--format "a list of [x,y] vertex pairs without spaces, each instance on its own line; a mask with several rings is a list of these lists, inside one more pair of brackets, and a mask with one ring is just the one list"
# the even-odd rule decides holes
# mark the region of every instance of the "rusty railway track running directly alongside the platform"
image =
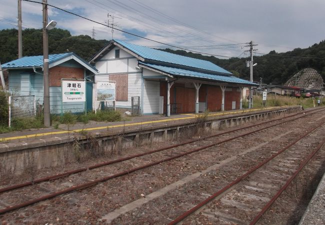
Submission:
[[[319,110],[314,110],[309,113],[317,113],[318,111]],[[251,126],[219,132],[214,135],[209,135],[207,137],[200,138],[200,140],[191,140],[181,144],[175,144],[169,147],[159,148],[150,152],[144,152],[141,154],[124,157],[118,160],[100,163],[87,168],[81,168],[74,171],[56,174],[54,176],[43,177],[31,182],[25,182],[23,184],[16,184],[13,186],[4,187],[0,189],[1,192],[0,197],[2,199],[0,201],[0,204],[4,206],[2,209],[0,209],[0,213],[18,209],[20,207],[24,207],[51,197],[55,197],[64,193],[71,192],[73,190],[80,190],[82,188],[93,186],[100,182],[107,181],[119,176],[123,176],[131,172],[150,167],[152,165],[157,165],[162,162],[166,162],[168,160],[176,159],[184,155],[189,155],[194,152],[198,152],[203,149],[213,147],[215,145],[220,145],[227,141],[238,139],[244,135],[254,135],[254,133],[259,132],[261,130],[278,126],[280,124],[292,121],[294,119],[298,119],[296,117],[305,117],[309,115],[309,113],[302,114],[302,115],[294,114],[291,115],[290,117],[274,119],[271,121],[254,124]],[[208,141],[211,143],[205,144],[205,143],[199,143],[199,141],[201,142]],[[202,146],[193,147],[193,143],[196,143],[194,146],[197,145],[202,145]],[[191,149],[188,150],[188,148]],[[151,154],[156,154],[156,155],[151,156]],[[155,160],[151,160],[151,157]],[[156,160],[157,158],[160,160]],[[108,165],[110,166],[113,165],[115,167],[113,169],[112,168],[102,169],[102,166],[107,167]],[[118,171],[112,174],[112,171],[120,170],[120,168],[123,169],[126,168],[126,170]],[[89,169],[93,169],[94,172],[89,172]],[[76,175],[73,175],[73,173],[75,172],[79,172],[79,173],[86,172],[87,176],[85,176],[84,173],[82,173],[82,176],[78,173]],[[26,188],[30,188],[30,189],[26,189]],[[24,202],[21,202],[20,199],[19,199],[20,202],[17,202],[17,199],[14,199],[14,196],[17,195],[23,196],[22,199],[24,200]],[[39,196],[39,197],[35,198],[34,196]]]

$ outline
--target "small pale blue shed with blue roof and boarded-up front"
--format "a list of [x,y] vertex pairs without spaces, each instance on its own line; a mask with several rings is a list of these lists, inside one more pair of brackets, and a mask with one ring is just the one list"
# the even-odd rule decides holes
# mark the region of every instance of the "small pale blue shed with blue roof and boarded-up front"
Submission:
[[[92,85],[97,69],[73,52],[50,54],[49,99],[50,113],[63,111],[79,112],[85,108],[84,102],[63,102],[61,78],[87,79],[87,109],[92,110]],[[8,70],[8,90],[12,95],[35,95],[38,104],[43,104],[43,56],[24,56],[2,64]]]

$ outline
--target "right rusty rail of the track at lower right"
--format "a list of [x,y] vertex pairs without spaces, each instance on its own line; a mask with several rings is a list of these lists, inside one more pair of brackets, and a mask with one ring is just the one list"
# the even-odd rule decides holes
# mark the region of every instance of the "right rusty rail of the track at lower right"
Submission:
[[270,201],[262,208],[262,210],[255,216],[255,218],[249,223],[249,225],[255,224],[260,217],[266,212],[267,209],[271,207],[274,201],[280,196],[280,194],[289,186],[292,180],[298,175],[298,173],[304,168],[308,161],[318,152],[318,150],[325,143],[325,139],[318,144],[317,148],[308,155],[306,159],[300,164],[299,168],[293,173],[293,175],[286,181],[286,183],[276,192],[276,194],[270,199]]

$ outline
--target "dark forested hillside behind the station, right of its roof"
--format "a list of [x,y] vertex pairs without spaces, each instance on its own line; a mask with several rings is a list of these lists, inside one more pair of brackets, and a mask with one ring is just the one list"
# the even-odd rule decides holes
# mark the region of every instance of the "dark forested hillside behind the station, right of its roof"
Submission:
[[[249,79],[249,67],[246,67],[245,63],[246,60],[249,60],[247,57],[219,59],[214,56],[205,56],[184,50],[165,50],[209,60],[240,78]],[[325,40],[308,48],[295,48],[285,53],[276,53],[273,50],[262,56],[254,56],[253,59],[254,63],[257,62],[253,69],[254,81],[259,81],[260,77],[262,77],[263,83],[283,84],[290,76],[307,67],[317,70],[322,78],[325,78]]]

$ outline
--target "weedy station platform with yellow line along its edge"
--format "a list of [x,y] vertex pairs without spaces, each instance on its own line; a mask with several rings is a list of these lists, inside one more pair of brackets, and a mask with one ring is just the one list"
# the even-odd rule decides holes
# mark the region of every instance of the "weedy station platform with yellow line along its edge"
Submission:
[[[207,117],[219,117],[219,116],[231,116],[235,114],[243,114],[243,113],[254,113],[258,111],[265,110],[276,110],[283,107],[265,107],[265,108],[254,108],[254,109],[237,109],[237,110],[229,110],[222,112],[210,112],[207,114]],[[69,135],[71,133],[89,133],[89,132],[101,132],[101,131],[115,131],[122,132],[123,130],[129,129],[143,129],[148,126],[155,125],[174,125],[177,123],[182,123],[183,121],[195,120],[197,117],[202,116],[204,113],[186,113],[186,114],[172,114],[169,117],[160,115],[160,114],[152,114],[152,115],[140,115],[140,116],[126,116],[123,117],[124,121],[118,122],[96,122],[90,121],[89,123],[78,122],[76,124],[60,124],[58,128],[46,127],[46,128],[38,128],[38,129],[26,129],[21,131],[14,131],[9,133],[0,134],[0,143],[8,143],[8,142],[19,142],[25,140],[33,140],[33,139],[43,139],[43,138],[51,138],[51,137],[60,137]]]

